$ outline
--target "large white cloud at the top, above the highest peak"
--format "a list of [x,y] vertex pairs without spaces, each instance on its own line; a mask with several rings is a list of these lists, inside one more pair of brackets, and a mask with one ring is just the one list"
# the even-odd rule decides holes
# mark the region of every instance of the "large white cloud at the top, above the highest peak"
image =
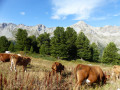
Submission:
[[[63,19],[68,15],[74,15],[74,20],[85,20],[97,7],[102,7],[113,0],[52,0],[52,19]],[[98,11],[99,12],[99,11]]]

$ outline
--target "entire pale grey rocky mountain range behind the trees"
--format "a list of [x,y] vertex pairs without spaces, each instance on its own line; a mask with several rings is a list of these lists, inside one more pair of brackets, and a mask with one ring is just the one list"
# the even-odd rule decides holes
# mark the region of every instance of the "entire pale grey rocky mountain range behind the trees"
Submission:
[[[83,21],[71,25],[77,33],[84,32],[90,42],[95,42],[100,47],[105,47],[109,42],[114,42],[120,48],[120,26],[93,27]],[[23,24],[2,23],[0,24],[0,36],[6,36],[9,40],[15,40],[15,34],[18,28],[26,29],[28,36],[47,32],[53,35],[56,27],[47,28],[42,24],[36,26],[25,26]]]

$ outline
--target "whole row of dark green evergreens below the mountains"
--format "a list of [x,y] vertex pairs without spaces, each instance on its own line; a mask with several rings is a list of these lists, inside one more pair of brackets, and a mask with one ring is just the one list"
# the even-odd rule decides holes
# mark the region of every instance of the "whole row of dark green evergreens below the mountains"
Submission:
[[10,41],[5,36],[1,36],[0,52],[24,51],[65,60],[83,59],[90,62],[120,64],[120,54],[113,42],[104,48],[102,56],[100,56],[100,50],[94,42],[90,44],[83,32],[77,34],[70,27],[67,27],[66,30],[63,27],[57,27],[53,37],[46,32],[38,37],[28,36],[26,30],[18,29],[15,38],[15,41]]

